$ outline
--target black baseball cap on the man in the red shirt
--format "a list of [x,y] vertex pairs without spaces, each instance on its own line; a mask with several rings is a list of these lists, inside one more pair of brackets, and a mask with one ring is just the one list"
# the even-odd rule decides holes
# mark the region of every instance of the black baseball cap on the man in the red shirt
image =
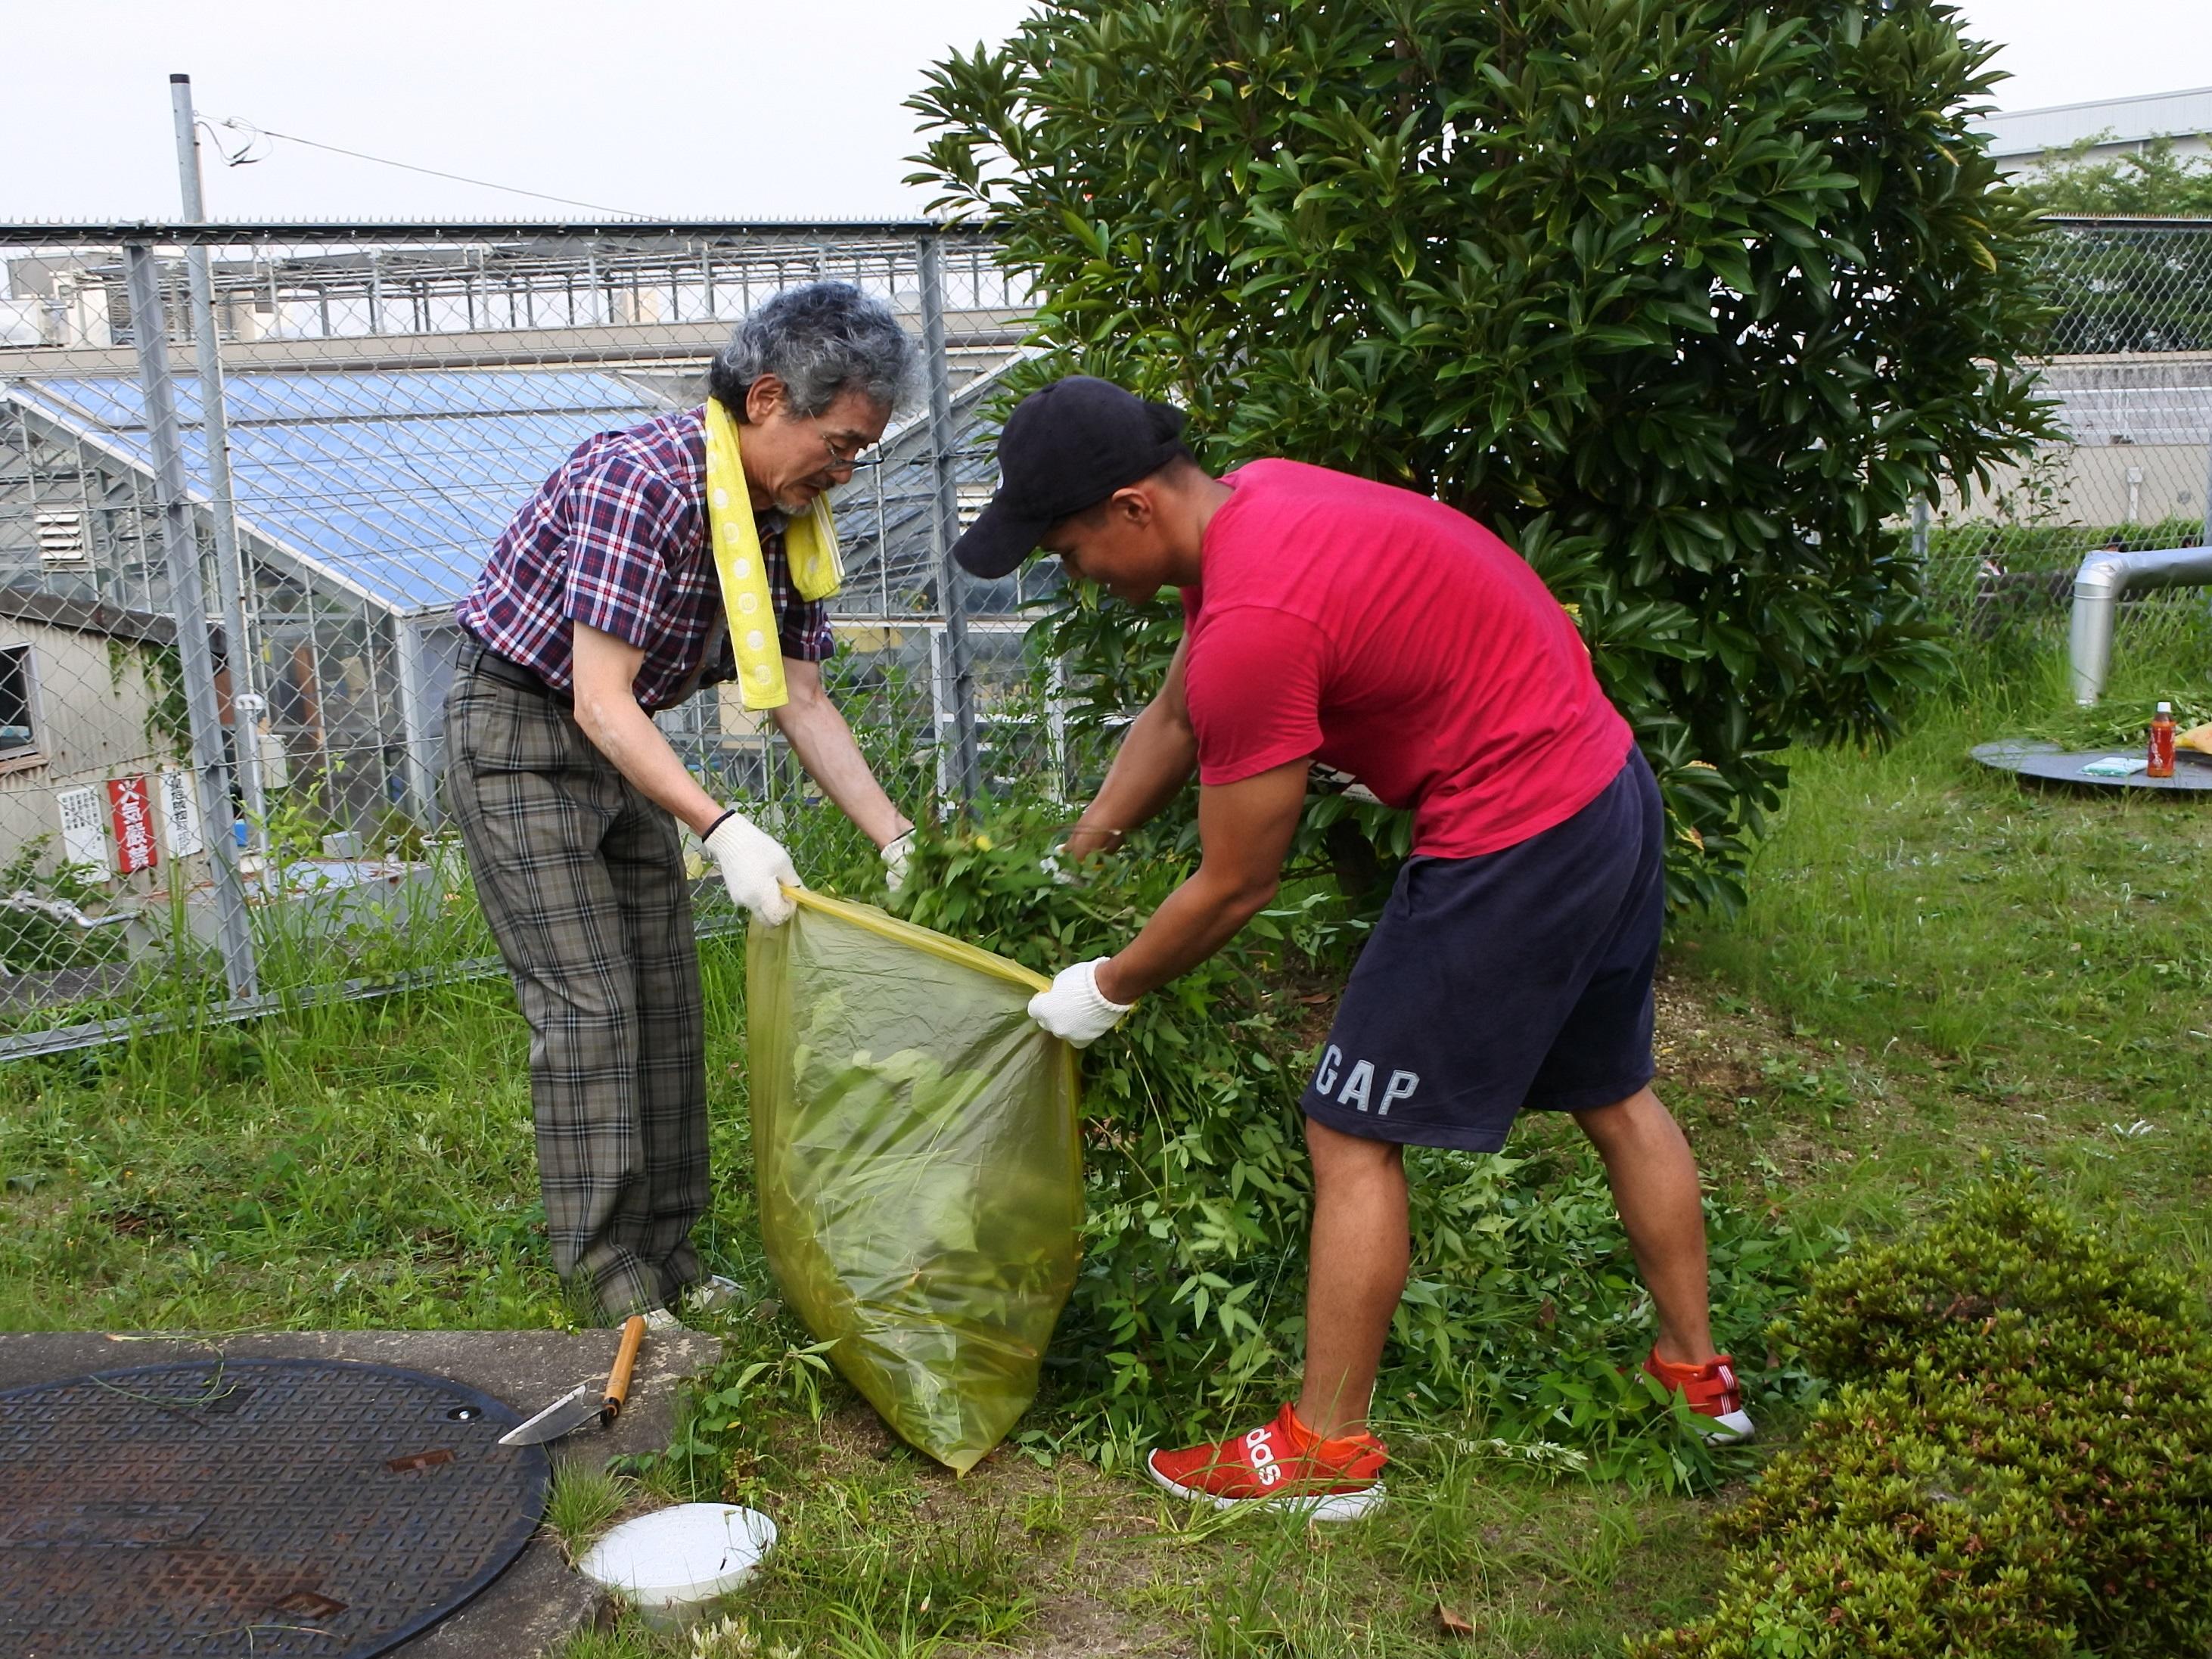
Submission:
[[1181,409],[1113,380],[1071,374],[1031,392],[998,434],[998,493],[953,557],[969,575],[1006,575],[1053,524],[1188,453],[1181,434]]

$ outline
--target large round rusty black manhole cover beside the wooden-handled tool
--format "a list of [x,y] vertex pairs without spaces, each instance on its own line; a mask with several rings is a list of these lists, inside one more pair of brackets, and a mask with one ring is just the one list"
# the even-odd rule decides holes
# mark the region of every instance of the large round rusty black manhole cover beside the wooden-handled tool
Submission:
[[484,1588],[546,1498],[445,1378],[206,1360],[0,1394],[7,1659],[367,1659]]

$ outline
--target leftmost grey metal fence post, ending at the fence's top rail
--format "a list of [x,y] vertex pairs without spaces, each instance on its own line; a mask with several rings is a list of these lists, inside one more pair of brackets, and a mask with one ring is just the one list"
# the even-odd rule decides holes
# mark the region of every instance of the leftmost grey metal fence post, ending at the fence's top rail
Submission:
[[[184,442],[177,434],[177,394],[168,372],[168,325],[161,316],[161,272],[153,248],[124,248],[131,281],[131,338],[137,345],[139,387],[146,396],[146,436],[153,445],[155,502],[161,511],[161,549],[168,555],[168,602],[177,619],[177,657],[192,726],[192,776],[199,781],[199,821],[206,825],[208,865],[215,872],[215,916],[223,942],[230,995],[257,993],[254,933],[239,880],[239,849],[230,816],[230,774],[223,765],[223,717],[215,701],[215,653],[208,648],[208,602],[199,584],[199,538],[192,533],[184,489]],[[237,657],[243,641],[230,641]]]

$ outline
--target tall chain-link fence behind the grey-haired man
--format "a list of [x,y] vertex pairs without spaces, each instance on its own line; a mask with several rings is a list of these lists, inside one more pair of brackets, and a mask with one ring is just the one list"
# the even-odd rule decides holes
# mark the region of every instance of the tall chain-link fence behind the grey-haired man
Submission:
[[[1051,672],[1024,653],[1040,573],[945,580],[991,493],[980,422],[1029,316],[973,234],[0,243],[0,1057],[263,1006],[334,967],[389,982],[484,960],[440,807],[453,599],[577,442],[697,405],[734,321],[790,283],[880,294],[927,358],[929,396],[834,495],[847,580],[825,679],[863,750],[909,812],[1064,770]],[[661,723],[801,867],[852,852],[734,688]]]

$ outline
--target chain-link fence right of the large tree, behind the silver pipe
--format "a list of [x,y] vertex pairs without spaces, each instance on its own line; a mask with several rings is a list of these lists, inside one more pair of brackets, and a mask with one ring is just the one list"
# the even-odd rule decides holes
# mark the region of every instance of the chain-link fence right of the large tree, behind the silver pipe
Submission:
[[2064,436],[1913,520],[1938,604],[1982,637],[2051,626],[2101,549],[2212,544],[2212,221],[2057,219],[2037,257]]

